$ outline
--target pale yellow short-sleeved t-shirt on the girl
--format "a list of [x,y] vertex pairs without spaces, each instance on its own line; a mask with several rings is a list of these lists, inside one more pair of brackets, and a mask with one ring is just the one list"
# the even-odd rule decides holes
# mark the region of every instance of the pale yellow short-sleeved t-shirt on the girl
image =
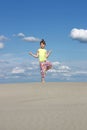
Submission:
[[47,60],[46,53],[47,53],[46,49],[42,49],[42,48],[38,49],[38,55],[39,55],[40,62],[44,62]]

